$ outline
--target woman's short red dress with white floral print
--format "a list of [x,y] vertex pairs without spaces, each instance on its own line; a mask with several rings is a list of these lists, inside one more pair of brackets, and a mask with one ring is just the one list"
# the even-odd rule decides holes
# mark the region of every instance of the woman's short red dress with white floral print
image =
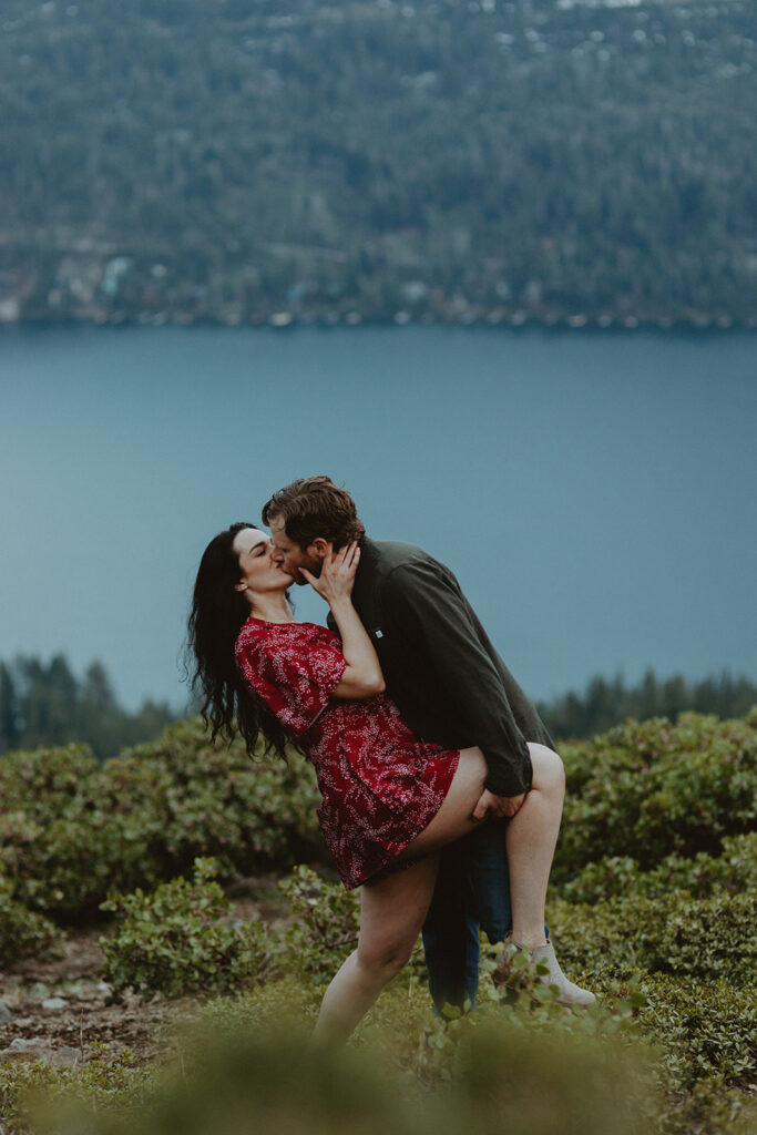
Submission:
[[419,741],[385,693],[333,698],[346,663],[326,627],[249,619],[235,655],[253,692],[316,766],[326,842],[344,885],[359,886],[428,826],[460,754]]

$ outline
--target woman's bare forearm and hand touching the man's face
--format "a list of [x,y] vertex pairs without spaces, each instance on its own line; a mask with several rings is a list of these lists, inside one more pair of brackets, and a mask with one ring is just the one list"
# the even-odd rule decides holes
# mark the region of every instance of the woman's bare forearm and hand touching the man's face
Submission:
[[352,605],[352,586],[359,563],[360,548],[350,544],[338,552],[329,546],[318,578],[304,568],[300,569],[311,587],[328,603],[339,630],[342,653],[347,665],[334,697],[346,700],[367,698],[386,689],[373,644]]

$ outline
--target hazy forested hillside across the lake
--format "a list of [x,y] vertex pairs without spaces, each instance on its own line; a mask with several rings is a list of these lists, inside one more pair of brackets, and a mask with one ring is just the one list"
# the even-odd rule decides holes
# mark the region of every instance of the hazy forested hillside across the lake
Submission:
[[751,0],[5,0],[0,319],[757,317]]

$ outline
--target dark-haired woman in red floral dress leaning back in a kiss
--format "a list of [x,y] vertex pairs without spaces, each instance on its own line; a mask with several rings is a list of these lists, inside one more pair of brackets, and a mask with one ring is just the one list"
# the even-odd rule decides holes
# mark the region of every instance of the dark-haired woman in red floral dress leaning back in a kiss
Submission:
[[[348,889],[362,885],[358,949],[329,985],[317,1036],[347,1036],[405,965],[428,909],[441,847],[480,822],[487,774],[478,748],[419,741],[384,692],[384,676],[351,592],[356,544],[331,552],[319,578],[339,637],[297,623],[292,577],[269,537],[234,524],[205,549],[194,588],[190,645],[212,734],[238,728],[249,751],[260,731],[283,753],[294,738],[316,766],[319,819]],[[594,995],[564,976],[545,939],[544,903],[557,841],[564,774],[557,754],[529,743],[532,788],[506,825],[512,941],[549,967],[566,1003]],[[403,869],[398,869],[403,868]]]

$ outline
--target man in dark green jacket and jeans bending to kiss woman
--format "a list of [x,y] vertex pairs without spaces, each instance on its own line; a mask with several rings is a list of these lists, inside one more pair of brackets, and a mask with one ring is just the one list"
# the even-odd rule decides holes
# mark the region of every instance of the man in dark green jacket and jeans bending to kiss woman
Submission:
[[[531,785],[527,741],[554,743],[487,638],[453,573],[410,544],[365,536],[355,504],[328,477],[298,479],[266,504],[281,566],[320,574],[328,545],[359,540],[352,600],[379,661],[387,691],[411,728],[448,749],[479,746],[488,776],[474,815],[515,815]],[[333,628],[335,629],[335,628]],[[474,1003],[479,925],[490,941],[512,926],[504,839],[482,824],[443,852],[423,925],[429,987],[437,1010]],[[579,994],[587,991],[577,990]],[[594,1000],[587,993],[587,1000]]]

